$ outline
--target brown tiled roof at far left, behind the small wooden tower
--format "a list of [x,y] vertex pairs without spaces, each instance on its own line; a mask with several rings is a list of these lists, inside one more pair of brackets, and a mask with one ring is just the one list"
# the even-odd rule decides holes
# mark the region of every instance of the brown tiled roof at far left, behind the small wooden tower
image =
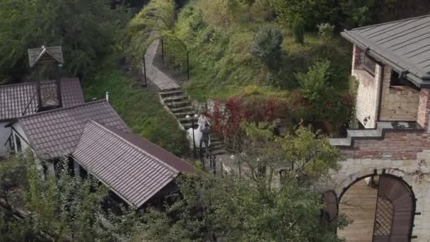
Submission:
[[[13,120],[31,115],[37,109],[37,86],[35,82],[0,86],[0,121]],[[84,103],[79,79],[62,79],[64,107]]]

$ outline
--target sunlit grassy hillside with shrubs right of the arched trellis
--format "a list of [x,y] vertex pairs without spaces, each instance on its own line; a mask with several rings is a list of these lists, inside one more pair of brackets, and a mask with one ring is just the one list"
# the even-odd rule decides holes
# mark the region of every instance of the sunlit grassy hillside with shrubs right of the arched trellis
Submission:
[[[301,45],[294,42],[289,28],[268,16],[264,6],[236,6],[228,23],[219,23],[210,7],[205,1],[189,4],[180,12],[174,30],[191,53],[192,81],[184,87],[193,98],[225,100],[248,85],[275,92],[292,90],[298,87],[294,74],[306,71],[318,59],[332,61],[332,72],[339,76],[337,91],[347,90],[351,50],[339,38],[325,41],[317,33],[306,33]],[[250,54],[255,33],[265,25],[276,25],[284,35],[279,72],[265,69]]]

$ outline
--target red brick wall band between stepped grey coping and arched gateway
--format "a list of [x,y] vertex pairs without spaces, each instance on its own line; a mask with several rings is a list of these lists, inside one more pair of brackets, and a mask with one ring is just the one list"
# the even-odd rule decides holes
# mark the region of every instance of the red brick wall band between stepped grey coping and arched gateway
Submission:
[[422,131],[385,132],[385,139],[356,139],[354,148],[342,148],[342,159],[416,160],[430,149],[430,134]]

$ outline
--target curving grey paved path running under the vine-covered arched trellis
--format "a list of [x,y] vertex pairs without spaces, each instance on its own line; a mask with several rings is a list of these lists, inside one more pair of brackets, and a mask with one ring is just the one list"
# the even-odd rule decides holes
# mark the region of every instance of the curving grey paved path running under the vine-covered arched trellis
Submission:
[[[154,31],[151,33],[151,38],[156,37],[158,33]],[[163,73],[158,67],[154,65],[154,59],[157,54],[158,46],[160,45],[160,40],[154,40],[151,45],[149,45],[145,54],[145,62],[146,62],[146,77],[151,80],[153,83],[160,88],[161,91],[170,91],[174,89],[180,88],[178,83],[176,83],[173,79],[170,79],[169,76]],[[144,69],[142,67],[142,73],[144,73]]]

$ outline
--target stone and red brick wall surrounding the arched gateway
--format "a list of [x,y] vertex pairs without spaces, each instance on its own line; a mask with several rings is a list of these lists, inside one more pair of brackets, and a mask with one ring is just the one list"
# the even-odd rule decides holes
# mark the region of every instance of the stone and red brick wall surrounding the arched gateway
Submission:
[[335,190],[337,195],[356,178],[371,175],[376,169],[402,177],[412,186],[417,198],[412,241],[430,241],[430,134],[424,131],[385,131],[382,140],[355,140],[353,148],[340,149],[339,171],[331,171],[322,191]]

